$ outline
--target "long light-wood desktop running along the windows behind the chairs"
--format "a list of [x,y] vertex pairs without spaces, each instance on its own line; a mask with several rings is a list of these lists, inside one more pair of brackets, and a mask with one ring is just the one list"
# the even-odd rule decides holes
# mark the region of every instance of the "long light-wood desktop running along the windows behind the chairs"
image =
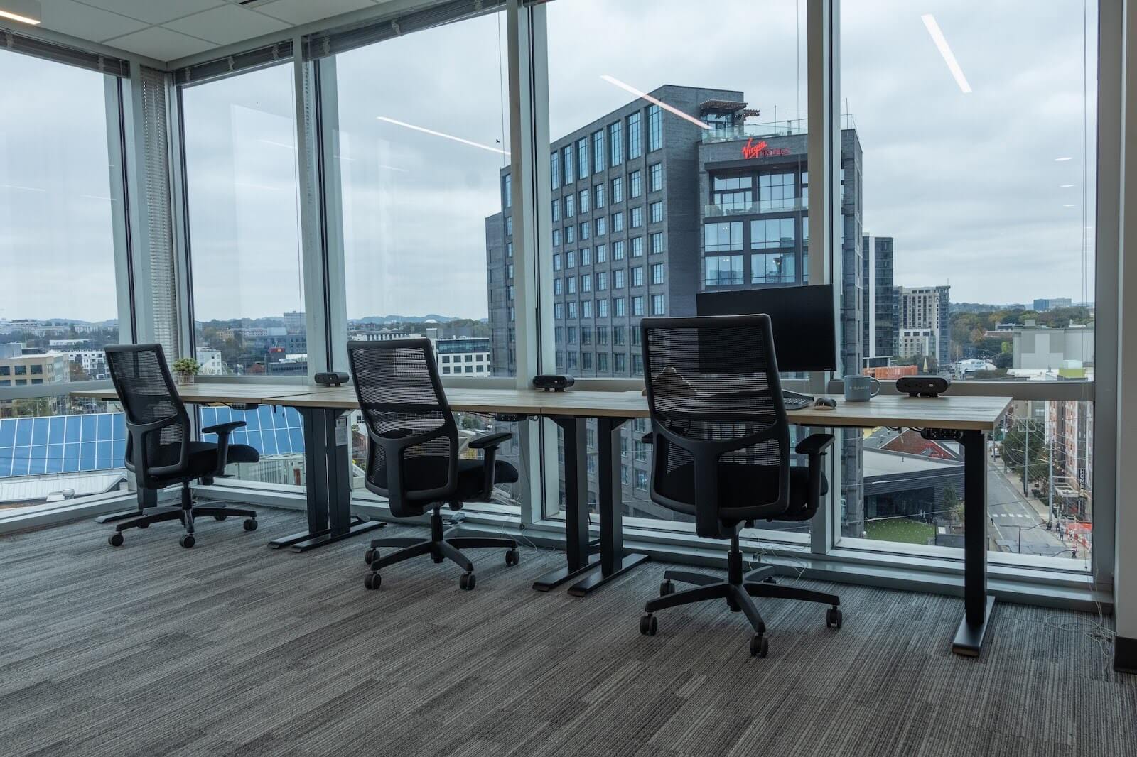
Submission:
[[[114,389],[76,390],[77,397],[117,399]],[[191,384],[180,386],[186,402],[258,402],[287,407],[358,407],[351,386],[324,388],[290,384]],[[567,415],[587,417],[646,418],[647,398],[630,392],[542,392],[532,389],[450,389],[450,408],[459,413],[516,413],[524,415]],[[789,422],[804,426],[872,429],[904,426],[915,429],[955,429],[994,431],[1011,407],[1010,397],[953,397],[935,399],[878,396],[869,402],[846,402],[833,397],[837,408],[791,410]]]

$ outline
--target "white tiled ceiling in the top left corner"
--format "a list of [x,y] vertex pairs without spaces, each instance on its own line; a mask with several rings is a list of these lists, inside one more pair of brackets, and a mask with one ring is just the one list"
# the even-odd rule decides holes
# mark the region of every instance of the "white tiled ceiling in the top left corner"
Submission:
[[[43,28],[175,60],[387,0],[41,0]],[[0,0],[0,7],[3,0]]]

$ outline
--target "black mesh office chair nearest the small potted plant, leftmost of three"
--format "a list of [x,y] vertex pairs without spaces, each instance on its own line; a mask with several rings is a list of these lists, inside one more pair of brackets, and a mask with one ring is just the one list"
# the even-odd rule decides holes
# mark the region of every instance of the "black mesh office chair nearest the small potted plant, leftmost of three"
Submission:
[[221,423],[202,429],[217,434],[217,443],[190,439],[190,416],[177,396],[169,375],[161,344],[119,344],[106,348],[110,380],[126,411],[126,468],[134,472],[139,486],[165,489],[182,484],[181,508],[158,508],[157,511],[115,526],[110,544],[123,544],[123,531],[146,529],[151,523],[181,521],[185,533],[182,547],[192,547],[194,516],[211,515],[218,521],[229,516],[244,517],[244,530],[256,531],[257,514],[252,510],[217,507],[193,507],[190,482],[200,479],[213,483],[224,475],[227,463],[256,463],[259,454],[248,444],[230,444],[229,436],[244,425],[243,421]]

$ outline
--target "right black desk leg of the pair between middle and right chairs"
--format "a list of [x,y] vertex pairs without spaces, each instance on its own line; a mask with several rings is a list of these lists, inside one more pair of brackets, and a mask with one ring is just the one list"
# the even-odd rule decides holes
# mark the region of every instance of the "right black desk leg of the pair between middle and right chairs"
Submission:
[[647,555],[624,555],[623,513],[620,483],[620,426],[626,418],[597,418],[597,499],[600,509],[600,572],[574,583],[573,597],[599,589],[625,571],[648,559]]

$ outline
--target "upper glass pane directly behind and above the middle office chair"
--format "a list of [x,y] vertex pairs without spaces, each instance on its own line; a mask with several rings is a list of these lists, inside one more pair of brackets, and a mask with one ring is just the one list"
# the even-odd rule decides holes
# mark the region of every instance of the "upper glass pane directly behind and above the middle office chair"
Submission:
[[443,377],[516,372],[504,40],[493,14],[335,58],[349,336],[475,356]]

